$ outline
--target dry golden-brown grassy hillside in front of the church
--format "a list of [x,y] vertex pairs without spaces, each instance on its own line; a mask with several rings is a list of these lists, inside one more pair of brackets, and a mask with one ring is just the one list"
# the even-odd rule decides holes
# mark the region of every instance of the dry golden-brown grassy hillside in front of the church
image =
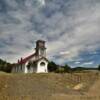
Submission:
[[62,100],[68,97],[72,98],[72,95],[84,96],[89,94],[88,91],[95,91],[95,88],[91,89],[90,87],[93,87],[98,79],[97,72],[73,74],[1,73],[0,100]]

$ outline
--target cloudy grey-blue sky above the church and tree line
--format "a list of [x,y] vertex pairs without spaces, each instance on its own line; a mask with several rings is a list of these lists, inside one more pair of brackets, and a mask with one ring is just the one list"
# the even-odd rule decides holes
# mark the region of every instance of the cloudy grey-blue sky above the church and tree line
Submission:
[[58,64],[100,64],[100,0],[0,0],[0,58],[16,62],[46,40]]

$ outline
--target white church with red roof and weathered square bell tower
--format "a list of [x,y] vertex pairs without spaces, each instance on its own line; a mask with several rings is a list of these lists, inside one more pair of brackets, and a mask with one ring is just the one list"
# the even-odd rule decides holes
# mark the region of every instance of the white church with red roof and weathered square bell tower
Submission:
[[48,59],[46,58],[45,41],[36,42],[35,53],[18,60],[12,68],[13,73],[48,73]]

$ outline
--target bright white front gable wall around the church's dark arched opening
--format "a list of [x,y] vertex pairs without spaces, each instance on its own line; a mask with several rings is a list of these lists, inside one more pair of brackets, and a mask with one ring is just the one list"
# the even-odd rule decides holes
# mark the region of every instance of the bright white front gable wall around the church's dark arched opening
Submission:
[[[44,66],[41,66],[41,62],[44,62],[45,65]],[[36,73],[48,73],[48,62],[45,60],[45,59],[42,59],[40,60],[38,63],[37,63],[37,72]]]

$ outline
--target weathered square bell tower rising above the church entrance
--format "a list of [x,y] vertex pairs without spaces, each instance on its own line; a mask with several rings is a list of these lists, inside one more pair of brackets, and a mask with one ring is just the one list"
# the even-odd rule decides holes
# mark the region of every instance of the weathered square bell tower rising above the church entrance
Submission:
[[38,40],[36,41],[36,55],[39,58],[45,57],[46,58],[46,47],[45,47],[45,41]]

